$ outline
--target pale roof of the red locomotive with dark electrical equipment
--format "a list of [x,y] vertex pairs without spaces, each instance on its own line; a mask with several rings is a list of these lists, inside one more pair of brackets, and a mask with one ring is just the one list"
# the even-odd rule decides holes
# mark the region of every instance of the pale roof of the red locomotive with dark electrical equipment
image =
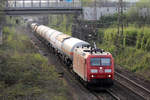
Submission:
[[102,52],[99,52],[99,51],[91,52],[91,47],[77,47],[77,48],[75,48],[75,52],[84,56],[84,58],[87,58],[89,55],[94,55],[94,56],[95,55],[97,55],[97,56],[98,55],[101,55],[101,56],[111,55],[110,52],[104,52],[104,51],[102,51]]

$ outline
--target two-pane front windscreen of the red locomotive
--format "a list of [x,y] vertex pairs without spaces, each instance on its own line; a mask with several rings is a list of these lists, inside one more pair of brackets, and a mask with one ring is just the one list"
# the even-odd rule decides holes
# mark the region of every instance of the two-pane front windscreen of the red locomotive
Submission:
[[110,66],[111,60],[110,58],[91,58],[90,64],[91,66]]

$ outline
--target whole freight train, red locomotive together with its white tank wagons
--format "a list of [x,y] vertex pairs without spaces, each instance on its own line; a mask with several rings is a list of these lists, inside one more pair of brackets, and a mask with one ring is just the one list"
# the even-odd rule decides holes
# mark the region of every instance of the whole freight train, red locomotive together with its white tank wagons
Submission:
[[37,23],[30,26],[84,83],[96,87],[113,85],[114,59],[111,53],[47,26]]

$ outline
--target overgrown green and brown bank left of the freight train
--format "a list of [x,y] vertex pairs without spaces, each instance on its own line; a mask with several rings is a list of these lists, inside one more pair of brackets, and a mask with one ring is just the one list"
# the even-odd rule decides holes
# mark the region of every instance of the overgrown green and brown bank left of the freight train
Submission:
[[0,99],[70,100],[66,83],[59,78],[55,67],[48,64],[48,59],[40,55],[29,37],[21,32],[10,24],[3,30]]

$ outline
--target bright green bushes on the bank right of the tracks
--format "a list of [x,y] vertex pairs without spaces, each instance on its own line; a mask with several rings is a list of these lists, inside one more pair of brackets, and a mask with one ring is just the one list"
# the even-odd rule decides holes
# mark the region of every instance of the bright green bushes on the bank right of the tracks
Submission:
[[119,36],[117,28],[99,31],[102,42],[100,48],[110,51],[115,63],[150,80],[150,28],[127,27]]

